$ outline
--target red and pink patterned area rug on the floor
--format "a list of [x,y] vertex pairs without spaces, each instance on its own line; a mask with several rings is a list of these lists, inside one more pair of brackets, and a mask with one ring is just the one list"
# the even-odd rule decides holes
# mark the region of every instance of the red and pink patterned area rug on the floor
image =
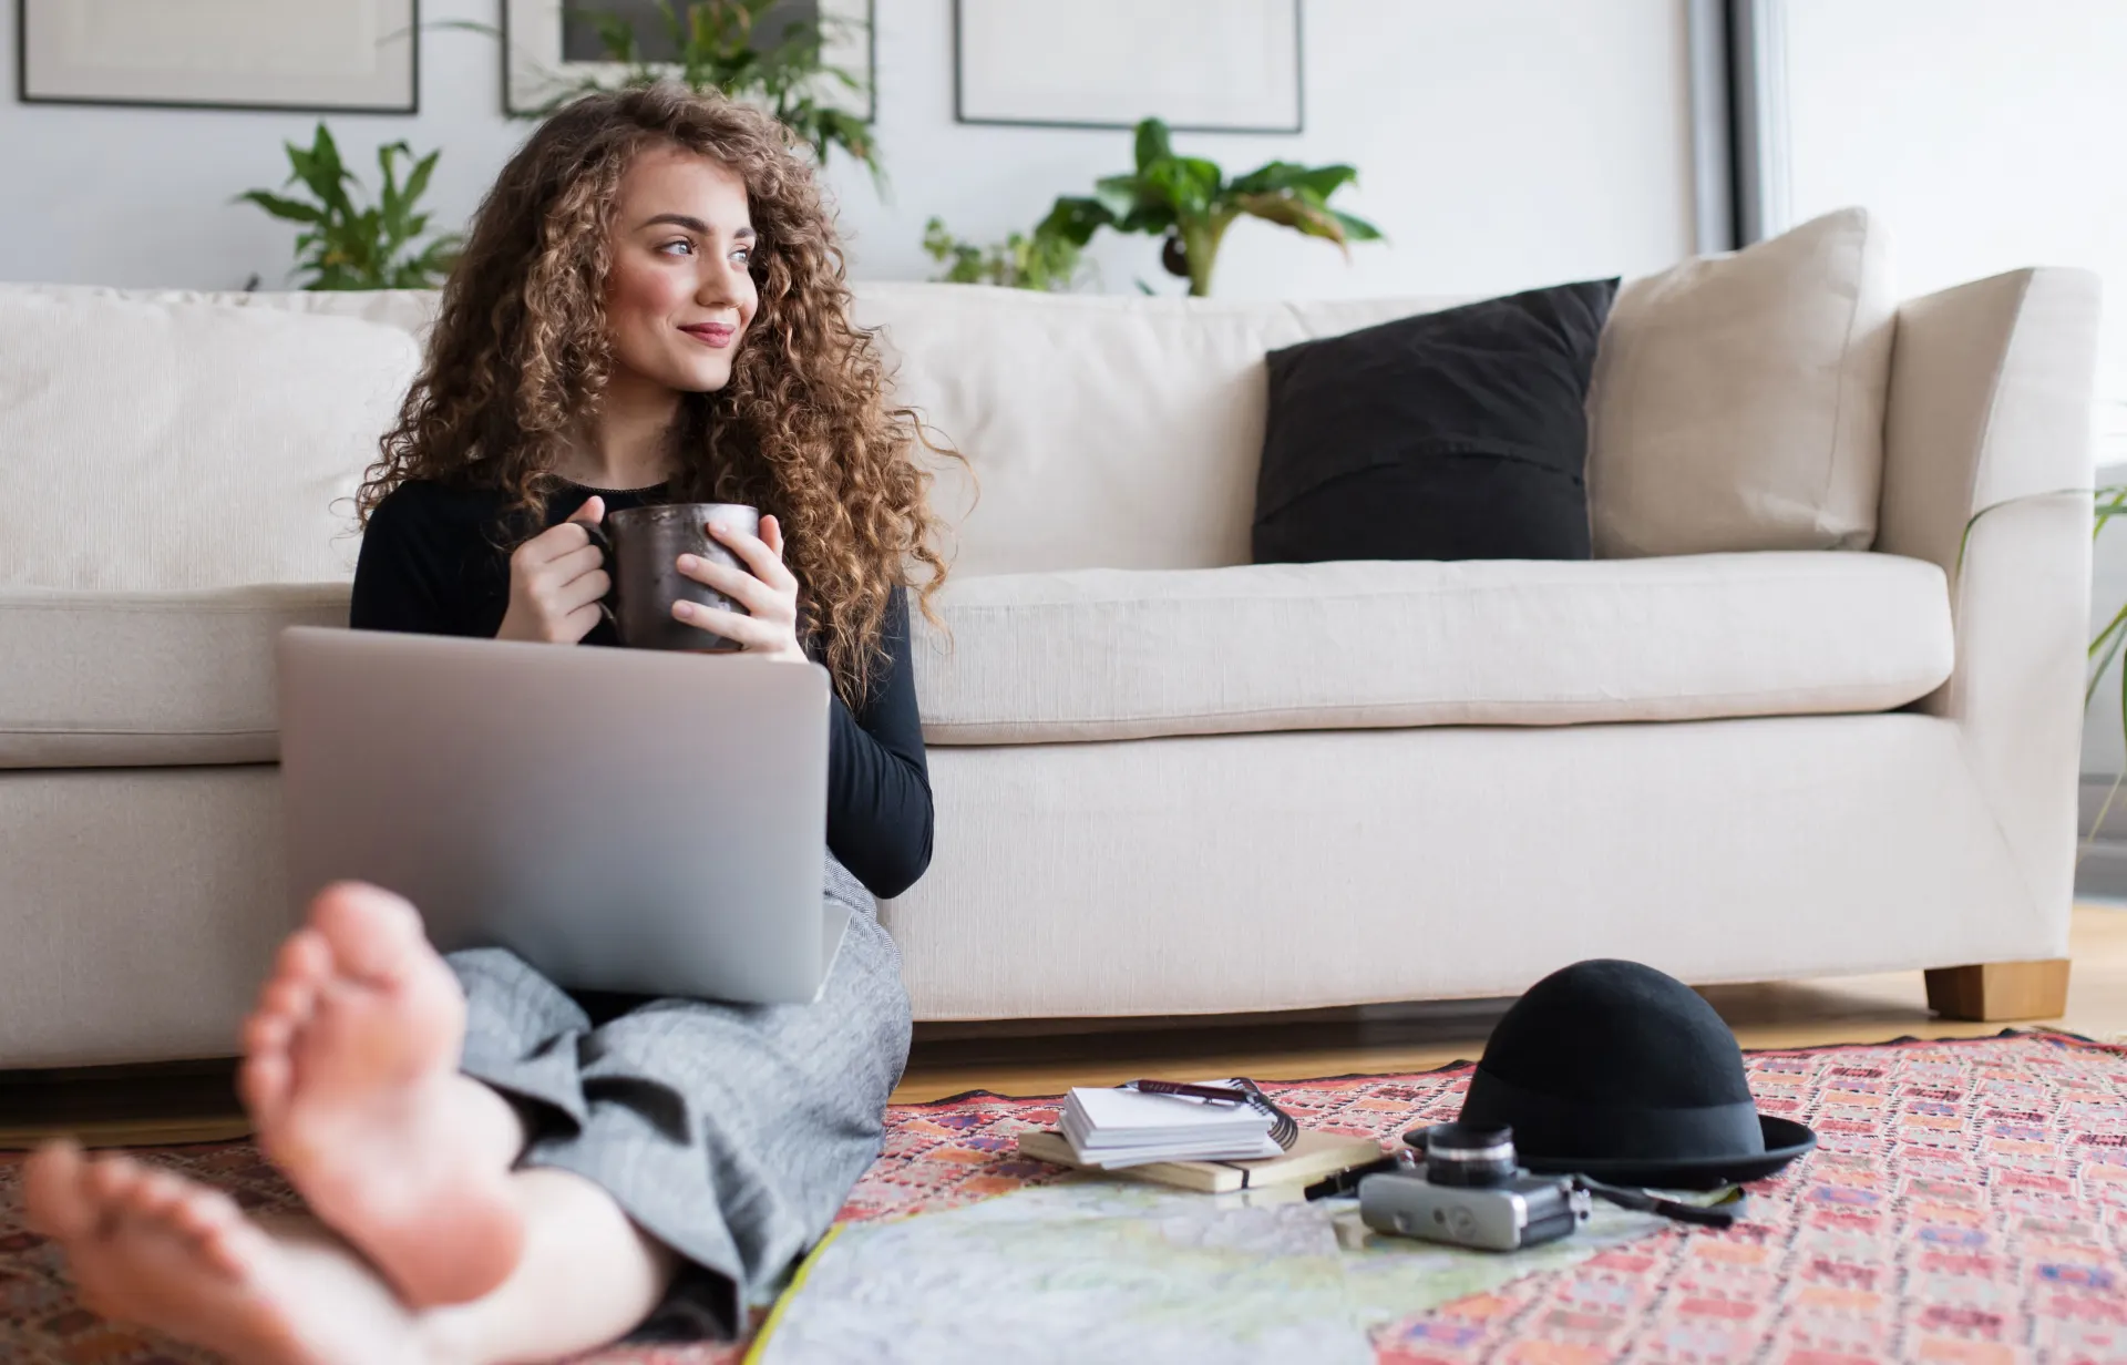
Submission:
[[[1759,1106],[1821,1148],[1751,1189],[1731,1231],[1674,1229],[1376,1333],[1383,1365],[1514,1361],[2127,1363],[2127,1046],[2055,1033],[1753,1052]],[[1468,1065],[1268,1084],[1304,1125],[1383,1144],[1451,1118]],[[898,1106],[844,1218],[891,1218],[1042,1184],[1012,1140],[1053,1101]],[[236,1193],[296,1199],[249,1144],[147,1159]],[[0,1155],[0,1359],[189,1365],[170,1342],[74,1303],[23,1229]],[[606,1350],[598,1365],[730,1365],[732,1346]],[[1036,1356],[1027,1356],[1036,1359]],[[1098,1365],[1098,1363],[1087,1363]]]

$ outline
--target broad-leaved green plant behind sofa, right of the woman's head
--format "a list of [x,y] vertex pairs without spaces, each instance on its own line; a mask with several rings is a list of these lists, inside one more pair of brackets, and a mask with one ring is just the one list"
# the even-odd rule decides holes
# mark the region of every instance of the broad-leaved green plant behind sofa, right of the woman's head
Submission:
[[1136,153],[1138,168],[1100,179],[1091,198],[1059,198],[1036,236],[1085,247],[1102,228],[1157,234],[1159,264],[1185,276],[1193,298],[1210,293],[1225,230],[1244,215],[1336,242],[1346,257],[1351,242],[1380,240],[1378,228],[1329,206],[1357,179],[1351,166],[1270,162],[1229,181],[1217,162],[1174,155],[1159,119],[1138,123]]

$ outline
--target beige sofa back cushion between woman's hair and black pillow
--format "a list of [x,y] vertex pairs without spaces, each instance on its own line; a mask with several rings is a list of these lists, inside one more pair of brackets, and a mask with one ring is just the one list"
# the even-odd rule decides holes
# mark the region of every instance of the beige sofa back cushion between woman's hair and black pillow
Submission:
[[1263,353],[1440,306],[912,283],[855,296],[895,400],[968,457],[925,459],[966,574],[1246,563]]

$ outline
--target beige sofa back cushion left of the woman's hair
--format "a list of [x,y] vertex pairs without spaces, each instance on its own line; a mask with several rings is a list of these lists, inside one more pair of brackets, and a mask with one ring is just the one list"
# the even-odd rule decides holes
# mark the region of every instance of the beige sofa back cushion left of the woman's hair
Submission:
[[0,587],[347,580],[419,361],[351,317],[0,289]]

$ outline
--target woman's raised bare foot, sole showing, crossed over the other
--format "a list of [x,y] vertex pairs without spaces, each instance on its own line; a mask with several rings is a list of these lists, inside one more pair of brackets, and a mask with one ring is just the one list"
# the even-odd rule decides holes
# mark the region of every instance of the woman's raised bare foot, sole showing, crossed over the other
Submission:
[[259,1146],[406,1303],[476,1299],[523,1252],[493,1093],[457,1074],[466,997],[404,899],[325,887],[245,1025]]

